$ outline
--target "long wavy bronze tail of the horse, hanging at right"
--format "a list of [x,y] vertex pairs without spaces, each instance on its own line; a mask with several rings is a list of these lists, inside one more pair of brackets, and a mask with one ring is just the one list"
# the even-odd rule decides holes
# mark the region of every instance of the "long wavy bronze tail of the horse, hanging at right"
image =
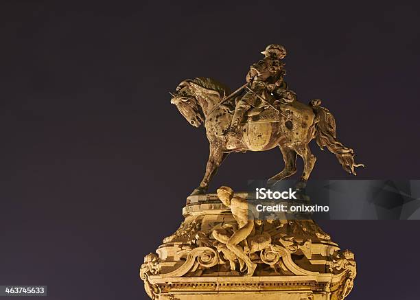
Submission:
[[316,143],[321,150],[324,147],[336,154],[338,162],[342,165],[342,168],[353,175],[355,175],[354,168],[364,167],[362,163],[354,162],[353,149],[347,148],[337,141],[336,139],[336,119],[327,108],[320,106],[321,100],[312,100],[310,105],[314,109],[316,118]]

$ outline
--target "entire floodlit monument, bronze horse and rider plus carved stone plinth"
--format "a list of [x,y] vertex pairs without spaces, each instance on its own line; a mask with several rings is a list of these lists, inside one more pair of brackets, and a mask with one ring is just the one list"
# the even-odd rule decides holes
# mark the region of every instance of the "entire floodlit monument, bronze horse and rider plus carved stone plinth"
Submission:
[[151,299],[344,300],[353,289],[354,254],[342,251],[314,220],[261,218],[248,205],[257,198],[253,192],[235,193],[228,186],[202,194],[230,152],[279,146],[285,168],[270,183],[294,174],[299,154],[305,161],[299,187],[314,167],[307,146],[312,139],[336,154],[347,172],[355,174],[360,166],[353,150],[337,141],[334,117],[320,100],[303,104],[288,89],[284,47],[269,45],[263,54],[233,93],[209,78],[195,78],[172,94],[191,125],[205,124],[210,157],[200,187],[187,198],[185,220],[156,254],[144,257],[139,275]]

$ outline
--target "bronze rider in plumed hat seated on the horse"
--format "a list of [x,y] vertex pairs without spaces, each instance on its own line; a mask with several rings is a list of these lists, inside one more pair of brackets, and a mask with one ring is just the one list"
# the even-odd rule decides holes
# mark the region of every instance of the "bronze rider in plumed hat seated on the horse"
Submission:
[[237,127],[242,121],[246,111],[251,107],[264,106],[274,100],[271,93],[275,89],[287,89],[287,84],[283,81],[285,76],[284,62],[281,60],[286,55],[285,47],[282,45],[268,45],[264,54],[264,59],[259,60],[252,66],[246,74],[246,94],[237,100],[235,113],[233,114],[231,126],[226,132],[227,137],[238,137]]

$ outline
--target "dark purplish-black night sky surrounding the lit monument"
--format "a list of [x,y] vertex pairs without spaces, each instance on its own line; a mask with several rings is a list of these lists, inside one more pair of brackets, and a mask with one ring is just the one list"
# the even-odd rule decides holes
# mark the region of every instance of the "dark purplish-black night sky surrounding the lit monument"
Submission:
[[[139,264],[178,227],[208,154],[168,91],[196,76],[240,86],[270,43],[366,163],[358,178],[419,178],[418,5],[104,2],[1,1],[0,285],[148,299]],[[351,178],[312,149],[312,178]],[[211,189],[282,166],[279,150],[233,154]],[[348,299],[418,299],[419,224],[322,222],[356,255]]]

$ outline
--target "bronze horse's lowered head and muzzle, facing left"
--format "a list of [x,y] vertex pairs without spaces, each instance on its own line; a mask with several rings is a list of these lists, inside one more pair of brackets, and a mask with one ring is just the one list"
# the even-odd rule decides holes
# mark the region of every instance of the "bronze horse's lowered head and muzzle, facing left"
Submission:
[[189,87],[189,82],[184,80],[178,84],[176,91],[170,94],[172,95],[171,104],[178,108],[188,123],[194,127],[200,127],[205,121],[205,115],[202,113],[195,93]]

